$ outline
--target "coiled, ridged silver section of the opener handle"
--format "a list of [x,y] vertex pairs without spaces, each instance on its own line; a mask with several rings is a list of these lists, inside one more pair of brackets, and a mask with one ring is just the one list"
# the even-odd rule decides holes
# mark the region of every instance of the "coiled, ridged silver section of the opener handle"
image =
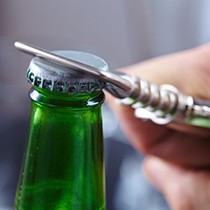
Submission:
[[135,91],[131,97],[121,101],[134,108],[138,118],[149,119],[160,125],[173,121],[183,123],[193,107],[193,98],[181,94],[174,86],[159,86],[137,77],[133,81]]

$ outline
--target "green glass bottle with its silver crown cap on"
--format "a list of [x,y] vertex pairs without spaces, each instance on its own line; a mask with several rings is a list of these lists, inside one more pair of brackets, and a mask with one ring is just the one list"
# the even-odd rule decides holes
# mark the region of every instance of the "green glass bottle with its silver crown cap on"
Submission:
[[[108,69],[91,54],[57,53]],[[33,85],[31,125],[15,209],[105,209],[101,117],[105,84],[40,58],[32,59],[27,78]]]

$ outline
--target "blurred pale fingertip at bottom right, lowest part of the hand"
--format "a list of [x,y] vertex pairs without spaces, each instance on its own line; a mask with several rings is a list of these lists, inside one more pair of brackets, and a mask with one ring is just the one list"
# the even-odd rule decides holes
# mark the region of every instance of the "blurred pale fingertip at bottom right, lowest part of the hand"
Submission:
[[210,172],[181,168],[157,157],[148,157],[143,171],[163,193],[173,210],[209,210]]

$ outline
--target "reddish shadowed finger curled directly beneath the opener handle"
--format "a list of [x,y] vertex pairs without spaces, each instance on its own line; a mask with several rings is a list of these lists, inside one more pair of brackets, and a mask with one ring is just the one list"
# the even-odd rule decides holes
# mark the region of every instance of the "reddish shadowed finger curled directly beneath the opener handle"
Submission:
[[208,135],[177,132],[166,126],[142,121],[134,117],[132,108],[120,105],[116,100],[111,102],[125,134],[139,152],[193,167],[210,164]]

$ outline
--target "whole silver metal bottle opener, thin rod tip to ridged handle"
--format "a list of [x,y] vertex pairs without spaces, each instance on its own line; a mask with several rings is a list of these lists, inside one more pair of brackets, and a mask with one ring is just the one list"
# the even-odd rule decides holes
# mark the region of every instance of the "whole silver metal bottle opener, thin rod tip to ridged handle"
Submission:
[[187,124],[210,128],[210,101],[194,99],[172,85],[157,85],[121,72],[101,71],[28,43],[15,47],[50,62],[90,74],[106,83],[105,89],[135,110],[135,116],[156,124]]

